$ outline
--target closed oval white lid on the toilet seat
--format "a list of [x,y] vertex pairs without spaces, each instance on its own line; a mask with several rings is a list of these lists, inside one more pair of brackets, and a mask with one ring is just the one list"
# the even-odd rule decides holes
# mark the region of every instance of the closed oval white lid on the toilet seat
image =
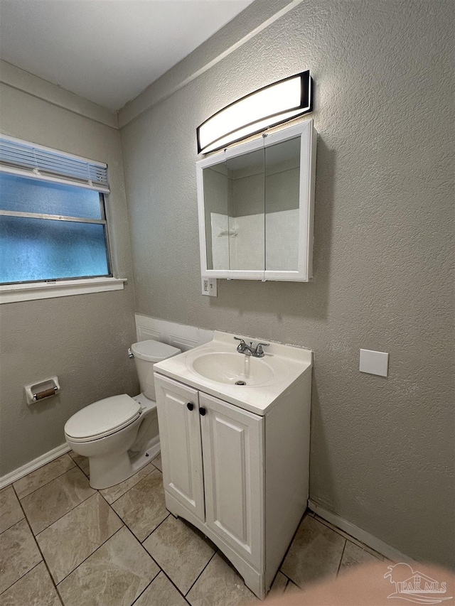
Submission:
[[127,396],[112,396],[85,406],[65,424],[70,438],[95,438],[119,431],[132,423],[141,413],[141,405]]

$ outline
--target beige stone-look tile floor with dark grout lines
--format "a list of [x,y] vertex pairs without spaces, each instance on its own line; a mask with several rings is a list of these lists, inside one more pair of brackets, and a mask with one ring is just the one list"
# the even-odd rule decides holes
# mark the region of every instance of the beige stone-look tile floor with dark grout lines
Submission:
[[[223,554],[164,504],[161,459],[94,490],[68,453],[0,491],[0,606],[240,606],[258,602]],[[272,592],[382,560],[307,513]]]

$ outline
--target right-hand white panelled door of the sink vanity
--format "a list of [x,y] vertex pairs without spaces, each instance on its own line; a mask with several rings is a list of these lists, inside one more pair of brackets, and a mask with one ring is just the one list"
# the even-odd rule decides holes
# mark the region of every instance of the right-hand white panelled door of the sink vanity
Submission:
[[264,418],[199,394],[205,408],[205,523],[259,568],[264,536]]

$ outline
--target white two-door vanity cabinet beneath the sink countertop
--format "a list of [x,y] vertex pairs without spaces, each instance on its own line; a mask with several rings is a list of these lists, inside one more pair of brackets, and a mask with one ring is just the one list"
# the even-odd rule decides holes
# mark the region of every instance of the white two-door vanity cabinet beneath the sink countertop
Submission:
[[154,377],[166,507],[262,599],[306,509],[311,367],[262,415]]

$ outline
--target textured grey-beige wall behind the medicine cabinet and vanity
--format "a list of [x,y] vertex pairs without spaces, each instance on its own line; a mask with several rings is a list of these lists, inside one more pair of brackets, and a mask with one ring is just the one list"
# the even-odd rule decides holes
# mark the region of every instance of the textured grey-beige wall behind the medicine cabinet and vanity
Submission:
[[[235,23],[245,35],[245,14],[230,36]],[[178,74],[197,72],[190,56],[120,115],[124,124],[164,99],[122,128],[137,311],[314,349],[311,499],[445,565],[454,563],[452,23],[451,1],[304,0],[179,88]],[[212,58],[220,40],[196,59]],[[220,280],[218,298],[201,296],[196,126],[307,68],[319,131],[314,279]],[[360,347],[390,352],[387,379],[358,372]]]

